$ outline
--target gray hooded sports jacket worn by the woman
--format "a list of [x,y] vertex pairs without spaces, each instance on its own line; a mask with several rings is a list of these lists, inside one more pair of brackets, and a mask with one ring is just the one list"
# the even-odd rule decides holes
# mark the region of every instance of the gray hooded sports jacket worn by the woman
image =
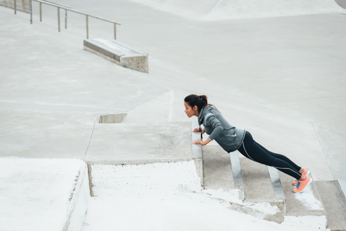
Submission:
[[215,139],[228,153],[237,150],[244,140],[245,130],[231,126],[213,105],[201,109],[198,123],[203,124],[209,139]]

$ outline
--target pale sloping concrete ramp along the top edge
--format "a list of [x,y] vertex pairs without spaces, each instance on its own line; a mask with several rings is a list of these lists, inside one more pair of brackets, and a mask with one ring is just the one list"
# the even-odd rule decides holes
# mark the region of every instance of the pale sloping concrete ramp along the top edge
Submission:
[[227,20],[344,11],[334,0],[131,0],[194,20]]

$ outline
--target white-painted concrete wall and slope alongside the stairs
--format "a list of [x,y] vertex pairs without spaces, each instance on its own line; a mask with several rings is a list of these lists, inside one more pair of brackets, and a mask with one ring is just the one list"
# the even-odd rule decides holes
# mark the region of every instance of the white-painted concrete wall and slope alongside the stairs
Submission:
[[[325,230],[325,217],[264,221],[230,208],[233,203],[261,211],[280,212],[269,203],[243,203],[232,190],[202,190],[193,161],[146,165],[92,165],[93,197],[83,231],[108,230]],[[308,205],[315,198],[305,196]],[[315,200],[314,200],[315,199]],[[316,209],[316,206],[312,209]],[[307,217],[305,217],[307,218]],[[325,224],[325,223],[324,223]]]

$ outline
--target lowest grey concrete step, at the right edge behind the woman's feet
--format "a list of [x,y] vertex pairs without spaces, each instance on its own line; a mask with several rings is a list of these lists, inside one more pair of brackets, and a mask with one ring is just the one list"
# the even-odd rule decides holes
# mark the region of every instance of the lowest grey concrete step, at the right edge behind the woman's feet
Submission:
[[338,181],[316,181],[318,193],[327,212],[327,228],[346,230],[346,198]]

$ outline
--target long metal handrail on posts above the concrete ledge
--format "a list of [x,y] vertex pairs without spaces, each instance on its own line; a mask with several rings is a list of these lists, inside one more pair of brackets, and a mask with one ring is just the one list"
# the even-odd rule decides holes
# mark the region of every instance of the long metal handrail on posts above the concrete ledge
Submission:
[[[15,14],[16,14],[16,0],[15,1]],[[116,22],[113,20],[108,20],[108,19],[104,19],[104,18],[100,18],[97,16],[93,16],[93,15],[89,15],[87,13],[83,13],[81,11],[78,10],[73,10],[71,9],[71,7],[68,6],[64,6],[61,4],[56,4],[56,3],[52,3],[52,2],[48,2],[48,1],[42,1],[42,0],[29,0],[29,13],[30,13],[30,24],[33,24],[33,11],[32,11],[32,7],[31,7],[31,1],[36,1],[40,3],[40,21],[42,21],[42,3],[43,4],[47,4],[49,6],[54,6],[57,7],[58,10],[58,31],[60,32],[60,8],[65,10],[65,29],[67,28],[67,10],[75,12],[75,13],[79,13],[81,15],[85,15],[85,20],[86,20],[86,39],[89,39],[89,23],[88,23],[88,17],[92,17],[92,18],[97,18],[103,21],[107,21],[107,22],[111,22],[114,25],[114,39],[116,39],[116,26],[121,25],[120,22]]]

